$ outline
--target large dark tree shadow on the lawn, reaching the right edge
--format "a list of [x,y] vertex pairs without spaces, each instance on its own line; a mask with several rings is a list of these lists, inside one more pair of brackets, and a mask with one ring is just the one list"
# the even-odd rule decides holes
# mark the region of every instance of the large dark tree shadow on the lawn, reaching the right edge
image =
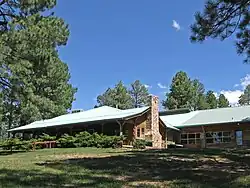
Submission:
[[247,162],[249,157],[245,156],[242,161],[240,156],[220,151],[216,155],[220,155],[224,161],[217,161],[211,159],[213,155],[202,157],[208,155],[207,152],[201,151],[197,154],[191,151],[135,151],[118,156],[46,161],[37,165],[72,173],[75,169],[85,169],[91,171],[92,176],[99,174],[112,177],[113,181],[135,187],[145,187],[147,183],[153,183],[150,187],[159,185],[171,188],[250,186],[250,181],[237,181],[240,177],[250,175]]

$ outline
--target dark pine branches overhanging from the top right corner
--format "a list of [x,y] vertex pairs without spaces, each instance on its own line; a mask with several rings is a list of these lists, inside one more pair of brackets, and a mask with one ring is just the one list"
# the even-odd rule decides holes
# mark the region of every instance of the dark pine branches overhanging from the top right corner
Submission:
[[207,0],[203,12],[195,14],[192,42],[207,38],[224,40],[236,33],[237,53],[250,63],[250,0]]

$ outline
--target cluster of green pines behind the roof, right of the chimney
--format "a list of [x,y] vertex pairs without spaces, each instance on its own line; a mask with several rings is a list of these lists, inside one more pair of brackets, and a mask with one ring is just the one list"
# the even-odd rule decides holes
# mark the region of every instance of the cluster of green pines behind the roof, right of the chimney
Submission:
[[217,99],[212,90],[205,93],[205,87],[198,79],[192,80],[187,73],[180,71],[173,77],[162,105],[166,109],[205,110],[228,107],[229,101],[223,94]]

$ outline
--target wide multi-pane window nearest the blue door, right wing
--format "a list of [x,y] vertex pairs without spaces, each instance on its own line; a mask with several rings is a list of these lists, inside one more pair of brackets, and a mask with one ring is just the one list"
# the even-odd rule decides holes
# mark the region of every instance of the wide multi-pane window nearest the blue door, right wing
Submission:
[[231,142],[231,132],[208,132],[206,133],[206,142],[208,144],[229,143]]

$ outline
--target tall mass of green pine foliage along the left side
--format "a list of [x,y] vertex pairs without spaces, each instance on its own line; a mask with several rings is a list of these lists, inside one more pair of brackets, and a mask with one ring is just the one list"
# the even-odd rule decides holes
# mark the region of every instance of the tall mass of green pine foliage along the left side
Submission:
[[58,55],[68,25],[56,0],[0,1],[0,93],[4,123],[21,126],[67,113],[76,89]]

